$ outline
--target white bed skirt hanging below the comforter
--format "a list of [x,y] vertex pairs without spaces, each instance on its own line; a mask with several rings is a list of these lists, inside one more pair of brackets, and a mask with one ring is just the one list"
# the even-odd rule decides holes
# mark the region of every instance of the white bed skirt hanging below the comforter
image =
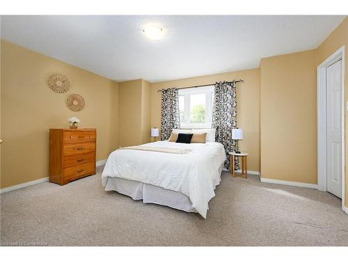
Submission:
[[[221,182],[221,171],[223,165],[219,168],[219,178],[214,180],[214,189]],[[105,186],[106,191],[117,191],[133,198],[134,200],[143,200],[143,203],[155,203],[180,209],[185,212],[197,212],[192,207],[191,200],[181,192],[162,189],[151,184],[145,184],[134,180],[125,180],[120,177],[108,177]]]

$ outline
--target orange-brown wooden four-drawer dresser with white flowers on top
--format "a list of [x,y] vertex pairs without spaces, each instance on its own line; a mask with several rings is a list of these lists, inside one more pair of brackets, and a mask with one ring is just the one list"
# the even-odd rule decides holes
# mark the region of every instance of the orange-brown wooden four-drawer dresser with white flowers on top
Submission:
[[49,129],[49,181],[67,184],[95,175],[96,129]]

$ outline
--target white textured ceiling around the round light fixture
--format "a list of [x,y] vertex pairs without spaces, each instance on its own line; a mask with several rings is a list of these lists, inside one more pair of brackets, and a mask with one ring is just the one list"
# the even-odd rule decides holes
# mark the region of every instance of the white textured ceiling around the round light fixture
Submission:
[[[116,81],[151,82],[257,68],[313,49],[345,16],[2,16],[1,38]],[[164,38],[145,38],[145,24]]]

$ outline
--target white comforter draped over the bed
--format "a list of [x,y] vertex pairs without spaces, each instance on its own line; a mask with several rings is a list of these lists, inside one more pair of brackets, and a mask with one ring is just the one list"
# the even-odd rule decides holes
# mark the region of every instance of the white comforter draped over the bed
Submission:
[[[105,187],[108,177],[120,177],[179,191],[188,196],[192,207],[204,218],[209,200],[215,196],[214,180],[226,160],[221,143],[173,143],[157,141],[143,146],[190,149],[185,155],[142,150],[115,150],[109,155],[102,173]],[[220,180],[219,180],[220,181]]]

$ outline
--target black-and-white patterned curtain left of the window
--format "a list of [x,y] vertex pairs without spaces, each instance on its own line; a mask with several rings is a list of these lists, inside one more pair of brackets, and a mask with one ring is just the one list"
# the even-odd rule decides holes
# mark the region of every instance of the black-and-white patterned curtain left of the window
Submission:
[[177,88],[162,89],[161,141],[169,139],[172,129],[180,129]]

